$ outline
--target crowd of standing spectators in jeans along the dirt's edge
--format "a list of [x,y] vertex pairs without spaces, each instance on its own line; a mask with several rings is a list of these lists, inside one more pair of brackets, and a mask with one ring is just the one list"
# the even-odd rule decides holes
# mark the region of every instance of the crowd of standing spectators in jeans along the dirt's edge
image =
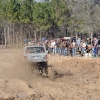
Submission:
[[[30,42],[29,42],[30,44]],[[39,41],[37,45],[44,45],[48,53],[58,54],[63,56],[98,56],[98,39],[53,39]]]

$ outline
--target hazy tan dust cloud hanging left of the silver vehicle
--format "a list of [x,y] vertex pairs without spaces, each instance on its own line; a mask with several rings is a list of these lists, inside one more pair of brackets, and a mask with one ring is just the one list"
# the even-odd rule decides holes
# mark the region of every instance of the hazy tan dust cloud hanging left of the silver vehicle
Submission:
[[29,80],[33,77],[32,71],[30,70],[30,66],[27,62],[24,60],[23,54],[18,51],[10,51],[9,53],[3,53],[3,58],[1,57],[0,60],[2,60],[1,66],[3,67],[3,78],[16,78],[21,80]]

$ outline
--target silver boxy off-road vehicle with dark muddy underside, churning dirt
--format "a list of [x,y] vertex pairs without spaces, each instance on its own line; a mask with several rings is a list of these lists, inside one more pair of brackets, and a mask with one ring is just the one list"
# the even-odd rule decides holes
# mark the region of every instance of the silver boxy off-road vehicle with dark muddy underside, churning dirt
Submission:
[[48,60],[47,51],[44,46],[26,46],[24,48],[24,57],[28,63],[35,63],[40,73],[47,74]]

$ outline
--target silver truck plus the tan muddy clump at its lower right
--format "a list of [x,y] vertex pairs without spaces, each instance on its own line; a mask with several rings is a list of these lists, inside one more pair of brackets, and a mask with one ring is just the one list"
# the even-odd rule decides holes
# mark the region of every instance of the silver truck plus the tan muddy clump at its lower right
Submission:
[[[48,77],[50,80],[56,78],[55,70],[52,66],[48,65],[47,51],[44,46],[26,46],[24,48],[24,58],[31,67],[36,67],[39,75]],[[35,66],[33,65],[35,64]],[[33,66],[32,66],[33,65]]]

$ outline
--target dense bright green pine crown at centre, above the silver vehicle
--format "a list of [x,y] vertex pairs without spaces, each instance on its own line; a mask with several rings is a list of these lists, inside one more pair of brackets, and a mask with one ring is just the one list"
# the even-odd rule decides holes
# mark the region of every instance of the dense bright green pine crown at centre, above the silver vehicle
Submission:
[[33,6],[33,23],[36,27],[44,29],[44,26],[49,28],[52,23],[52,8],[47,2],[36,3]]

